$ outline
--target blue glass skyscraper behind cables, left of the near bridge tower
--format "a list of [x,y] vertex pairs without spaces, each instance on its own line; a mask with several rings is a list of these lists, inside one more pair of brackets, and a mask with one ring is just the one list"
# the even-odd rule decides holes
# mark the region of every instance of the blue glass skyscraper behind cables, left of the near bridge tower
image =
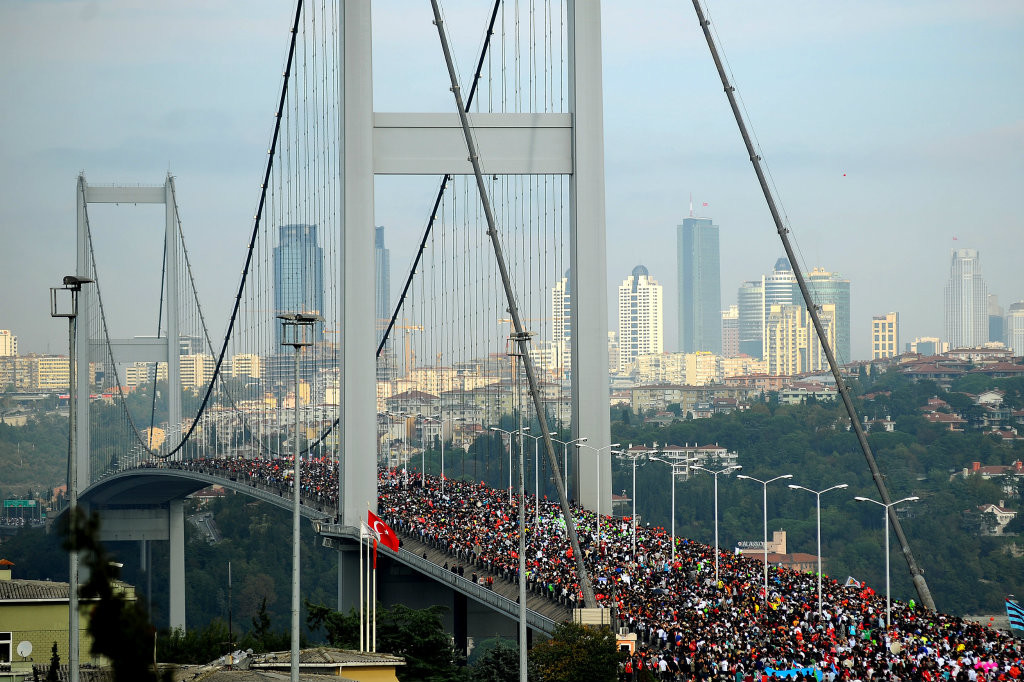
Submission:
[[[316,225],[278,227],[278,246],[273,248],[273,307],[274,314],[324,314],[324,249],[316,239]],[[317,324],[313,337],[318,338],[323,332],[324,325]],[[276,319],[274,341],[281,345],[281,324]]]

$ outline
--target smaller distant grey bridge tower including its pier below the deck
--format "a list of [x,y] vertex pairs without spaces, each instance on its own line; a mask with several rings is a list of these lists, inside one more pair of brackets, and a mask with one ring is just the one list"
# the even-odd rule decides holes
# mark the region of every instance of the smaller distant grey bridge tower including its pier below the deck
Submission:
[[[175,437],[175,426],[181,425],[181,372],[180,342],[178,340],[178,214],[174,201],[174,178],[167,175],[163,185],[157,186],[90,186],[85,175],[79,175],[76,191],[77,208],[77,269],[76,272],[95,279],[89,250],[89,204],[164,204],[164,269],[166,272],[165,334],[161,337],[111,339],[110,352],[115,365],[121,363],[167,363],[168,437]],[[92,302],[89,296],[79,299],[78,334],[78,404],[89,404],[89,361],[109,363],[105,340],[90,339]],[[116,372],[117,368],[109,371]],[[87,412],[85,413],[88,414]],[[89,419],[79,419],[76,429],[78,488],[84,491],[92,480],[89,457]],[[180,499],[153,509],[104,510],[100,526],[103,541],[139,541],[142,557],[148,557],[146,543],[160,540],[170,542],[170,605],[168,610],[171,628],[185,627],[185,564],[184,564],[184,512]],[[143,558],[148,572],[148,558]]]

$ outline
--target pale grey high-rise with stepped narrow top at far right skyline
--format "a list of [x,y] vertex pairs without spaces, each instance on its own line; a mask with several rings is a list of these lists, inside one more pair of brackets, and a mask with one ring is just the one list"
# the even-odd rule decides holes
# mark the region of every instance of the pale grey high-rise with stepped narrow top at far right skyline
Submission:
[[988,287],[977,250],[952,250],[945,294],[949,347],[974,348],[988,341]]

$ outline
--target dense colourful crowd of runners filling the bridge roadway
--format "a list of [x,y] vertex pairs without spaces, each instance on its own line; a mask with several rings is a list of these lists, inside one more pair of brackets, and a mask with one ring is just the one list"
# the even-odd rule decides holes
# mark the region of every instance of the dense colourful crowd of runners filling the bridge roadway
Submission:
[[[219,473],[281,494],[291,491],[291,459],[195,460],[171,466]],[[303,461],[303,496],[337,504],[330,460]],[[499,580],[518,580],[518,510],[507,491],[482,483],[425,479],[382,470],[380,516],[397,531],[442,549],[459,562]],[[535,522],[527,499],[526,580],[532,592],[567,606],[582,604],[575,561],[561,510],[542,507]],[[581,551],[599,603],[617,609],[620,623],[637,634],[623,679],[647,670],[656,679],[749,682],[772,677],[802,680],[924,680],[1007,682],[1024,680],[1021,640],[984,625],[894,601],[885,623],[885,599],[869,588],[825,579],[818,616],[817,578],[770,567],[764,594],[757,558],[723,552],[715,581],[714,548],[638,527],[632,553],[629,519],[602,517],[596,536],[592,512],[573,508]]]

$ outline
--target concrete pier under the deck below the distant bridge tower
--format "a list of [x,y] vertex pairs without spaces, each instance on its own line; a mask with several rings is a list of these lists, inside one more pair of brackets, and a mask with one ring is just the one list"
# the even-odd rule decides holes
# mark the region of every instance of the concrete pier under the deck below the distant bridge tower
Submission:
[[[170,543],[168,576],[168,624],[185,629],[185,519],[184,501],[170,500],[160,507],[141,509],[97,509],[100,542],[140,542],[140,563],[148,577],[152,571],[150,542]],[[152,582],[151,582],[152,584]],[[148,594],[148,592],[147,592]]]

